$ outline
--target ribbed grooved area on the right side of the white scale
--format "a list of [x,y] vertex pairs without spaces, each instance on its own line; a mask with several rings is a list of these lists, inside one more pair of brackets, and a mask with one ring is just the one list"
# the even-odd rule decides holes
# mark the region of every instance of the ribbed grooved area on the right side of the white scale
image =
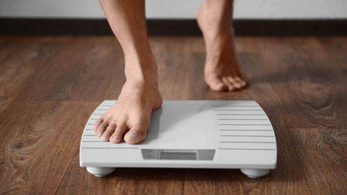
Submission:
[[273,132],[271,122],[260,105],[212,105],[212,109],[221,127],[219,149],[276,150],[275,136],[268,135]]

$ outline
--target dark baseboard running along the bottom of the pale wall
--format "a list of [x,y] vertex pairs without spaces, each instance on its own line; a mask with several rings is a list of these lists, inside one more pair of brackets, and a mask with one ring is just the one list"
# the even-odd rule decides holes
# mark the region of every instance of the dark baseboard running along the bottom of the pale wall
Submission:
[[[112,35],[105,19],[0,19],[0,35]],[[193,19],[148,19],[149,35],[201,35]],[[347,19],[235,19],[236,35],[346,36]]]

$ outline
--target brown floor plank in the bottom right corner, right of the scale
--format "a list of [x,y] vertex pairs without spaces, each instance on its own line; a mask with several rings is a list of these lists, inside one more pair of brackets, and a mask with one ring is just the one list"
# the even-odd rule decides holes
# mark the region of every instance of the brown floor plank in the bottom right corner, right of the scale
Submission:
[[346,194],[347,130],[290,130],[312,194]]

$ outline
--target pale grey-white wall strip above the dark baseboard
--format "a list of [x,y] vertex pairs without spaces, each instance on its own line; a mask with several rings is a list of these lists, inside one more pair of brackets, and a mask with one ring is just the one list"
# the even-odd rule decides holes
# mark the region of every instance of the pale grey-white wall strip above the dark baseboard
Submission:
[[[202,3],[147,0],[146,15],[151,19],[192,19]],[[347,19],[347,0],[235,0],[234,10],[237,19]],[[99,19],[104,15],[99,0],[0,0],[0,17]]]

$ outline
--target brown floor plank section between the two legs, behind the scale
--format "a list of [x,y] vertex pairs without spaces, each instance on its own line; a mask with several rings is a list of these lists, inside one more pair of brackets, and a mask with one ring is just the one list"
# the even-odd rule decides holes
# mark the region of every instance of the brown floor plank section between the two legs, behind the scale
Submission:
[[186,100],[189,94],[189,66],[192,64],[192,40],[189,37],[151,38],[158,62],[158,83],[165,100]]

